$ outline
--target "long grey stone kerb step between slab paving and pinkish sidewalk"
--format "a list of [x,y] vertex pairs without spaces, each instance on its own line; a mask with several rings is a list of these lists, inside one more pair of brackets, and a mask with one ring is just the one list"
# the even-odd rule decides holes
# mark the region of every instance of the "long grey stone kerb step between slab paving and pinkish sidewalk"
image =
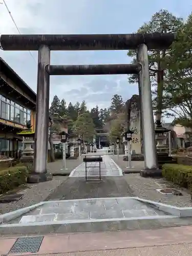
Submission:
[[31,235],[44,235],[44,234],[61,234],[61,233],[78,233],[78,232],[105,232],[114,230],[136,230],[136,229],[153,229],[163,228],[181,225],[190,225],[191,220],[185,218],[173,217],[173,216],[162,216],[160,218],[130,218],[130,219],[111,219],[103,221],[92,221],[92,222],[71,222],[61,224],[58,221],[51,223],[36,222],[2,226],[0,225],[1,236],[31,236]]

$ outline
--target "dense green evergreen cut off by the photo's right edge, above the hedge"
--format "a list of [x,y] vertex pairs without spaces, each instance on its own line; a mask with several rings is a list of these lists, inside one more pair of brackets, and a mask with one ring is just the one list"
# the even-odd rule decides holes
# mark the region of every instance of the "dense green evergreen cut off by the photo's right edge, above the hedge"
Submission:
[[[192,127],[192,13],[166,56],[164,103],[175,122]],[[167,113],[170,115],[170,112]]]

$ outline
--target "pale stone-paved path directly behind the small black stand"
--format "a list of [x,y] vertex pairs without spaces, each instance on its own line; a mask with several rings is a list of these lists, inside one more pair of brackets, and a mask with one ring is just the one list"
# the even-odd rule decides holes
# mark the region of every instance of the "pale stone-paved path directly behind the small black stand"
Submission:
[[[97,154],[101,153],[98,152]],[[122,176],[121,168],[114,162],[114,160],[110,156],[103,155],[102,159],[103,161],[100,163],[101,176]],[[87,163],[87,166],[88,177],[99,176],[98,162]],[[81,163],[74,170],[72,170],[70,177],[86,177],[86,163]]]

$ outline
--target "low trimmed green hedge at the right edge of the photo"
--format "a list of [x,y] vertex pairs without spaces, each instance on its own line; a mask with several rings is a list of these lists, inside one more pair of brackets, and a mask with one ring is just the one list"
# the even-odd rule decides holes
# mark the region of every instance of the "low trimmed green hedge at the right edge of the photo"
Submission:
[[181,187],[192,188],[192,166],[166,163],[162,165],[162,176]]

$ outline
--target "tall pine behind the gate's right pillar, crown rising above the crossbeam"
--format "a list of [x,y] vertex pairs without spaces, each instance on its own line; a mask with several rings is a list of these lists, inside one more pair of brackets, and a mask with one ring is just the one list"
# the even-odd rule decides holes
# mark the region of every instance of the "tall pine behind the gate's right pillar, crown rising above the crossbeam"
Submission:
[[[138,33],[173,33],[176,32],[183,25],[183,20],[180,17],[174,16],[167,10],[160,10],[156,12],[150,22],[145,23],[137,31]],[[136,61],[136,52],[130,50],[128,55],[134,57],[133,62]],[[154,108],[156,109],[156,120],[161,120],[163,105],[163,90],[164,90],[164,75],[166,73],[165,58],[169,55],[169,49],[167,50],[154,50],[148,51],[148,59],[150,63],[150,76],[151,84],[155,86],[154,94]],[[131,75],[129,77],[131,83],[138,81],[137,75]]]

